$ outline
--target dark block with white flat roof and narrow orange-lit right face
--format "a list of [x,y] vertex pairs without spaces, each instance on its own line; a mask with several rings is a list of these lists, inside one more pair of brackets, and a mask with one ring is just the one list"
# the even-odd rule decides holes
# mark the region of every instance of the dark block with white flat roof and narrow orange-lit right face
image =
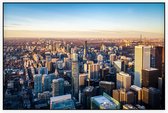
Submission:
[[135,103],[139,103],[141,104],[142,101],[142,88],[136,86],[136,85],[132,85],[130,87],[130,91],[132,91],[134,93],[134,101]]

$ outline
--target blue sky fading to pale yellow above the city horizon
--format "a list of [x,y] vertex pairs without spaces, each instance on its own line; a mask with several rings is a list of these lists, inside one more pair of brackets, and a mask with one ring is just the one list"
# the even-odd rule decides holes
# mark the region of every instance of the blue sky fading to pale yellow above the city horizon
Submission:
[[123,32],[163,38],[164,4],[4,4],[5,37],[124,37]]

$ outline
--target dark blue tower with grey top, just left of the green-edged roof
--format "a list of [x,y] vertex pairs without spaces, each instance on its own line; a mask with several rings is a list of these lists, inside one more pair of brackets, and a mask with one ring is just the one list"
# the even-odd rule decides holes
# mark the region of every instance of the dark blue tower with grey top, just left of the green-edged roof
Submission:
[[87,86],[82,93],[82,106],[84,109],[90,109],[90,99],[94,96],[94,87]]

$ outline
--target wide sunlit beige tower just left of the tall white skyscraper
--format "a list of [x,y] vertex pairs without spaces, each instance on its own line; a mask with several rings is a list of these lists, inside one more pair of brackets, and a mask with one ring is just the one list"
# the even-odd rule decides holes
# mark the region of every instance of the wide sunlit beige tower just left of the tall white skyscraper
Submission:
[[127,73],[117,73],[117,89],[124,88],[127,91],[131,86],[131,76]]

